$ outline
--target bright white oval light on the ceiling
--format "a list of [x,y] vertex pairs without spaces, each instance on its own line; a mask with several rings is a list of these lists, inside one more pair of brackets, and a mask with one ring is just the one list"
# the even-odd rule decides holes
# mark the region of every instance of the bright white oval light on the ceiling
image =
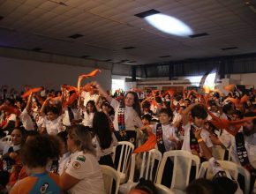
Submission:
[[150,25],[167,34],[188,36],[193,33],[192,29],[181,20],[162,13],[147,16],[145,19]]

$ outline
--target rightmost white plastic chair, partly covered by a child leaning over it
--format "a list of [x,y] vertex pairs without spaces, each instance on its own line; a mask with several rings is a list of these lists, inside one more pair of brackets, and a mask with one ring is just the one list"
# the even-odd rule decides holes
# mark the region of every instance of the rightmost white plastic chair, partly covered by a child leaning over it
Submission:
[[[230,175],[237,180],[238,174],[244,175],[245,177],[245,194],[249,194],[250,192],[250,180],[251,180],[251,175],[248,172],[247,169],[244,167],[237,165],[236,163],[232,161],[227,161],[227,160],[217,160],[221,167],[225,170],[228,170],[230,172]],[[198,178],[207,178],[207,179],[212,179],[213,174],[210,172],[210,170],[207,170],[209,168],[209,162],[205,161],[201,164],[200,167],[200,173],[198,175]]]

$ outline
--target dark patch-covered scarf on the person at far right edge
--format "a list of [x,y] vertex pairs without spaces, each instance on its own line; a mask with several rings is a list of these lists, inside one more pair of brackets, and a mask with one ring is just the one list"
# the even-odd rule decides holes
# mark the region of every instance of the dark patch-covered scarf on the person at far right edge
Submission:
[[237,156],[241,163],[241,165],[249,170],[251,175],[256,176],[256,169],[252,167],[250,164],[248,153],[245,148],[245,138],[242,132],[237,132],[236,138],[236,146],[237,146]]

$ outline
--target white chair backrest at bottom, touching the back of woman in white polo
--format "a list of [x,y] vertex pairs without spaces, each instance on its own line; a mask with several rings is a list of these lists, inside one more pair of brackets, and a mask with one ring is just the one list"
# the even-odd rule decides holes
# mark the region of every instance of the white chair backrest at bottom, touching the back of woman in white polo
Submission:
[[[101,168],[102,168],[102,175],[103,175],[106,194],[112,194],[112,193],[117,194],[119,190],[119,185],[120,185],[120,176],[117,170],[107,165],[101,165]],[[115,192],[112,192],[113,180],[115,180],[115,183],[116,183]]]

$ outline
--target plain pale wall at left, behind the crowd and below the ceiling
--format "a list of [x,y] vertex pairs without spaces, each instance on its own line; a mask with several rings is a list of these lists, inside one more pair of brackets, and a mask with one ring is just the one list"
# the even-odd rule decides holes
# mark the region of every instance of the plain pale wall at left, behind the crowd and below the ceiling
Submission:
[[[80,67],[59,63],[43,63],[31,60],[14,59],[0,56],[0,86],[7,85],[23,89],[24,85],[45,86],[59,89],[63,84],[77,86],[79,75],[93,71],[93,67]],[[102,73],[87,81],[97,80],[105,89],[111,88],[111,71]],[[83,84],[86,81],[83,82]]]

